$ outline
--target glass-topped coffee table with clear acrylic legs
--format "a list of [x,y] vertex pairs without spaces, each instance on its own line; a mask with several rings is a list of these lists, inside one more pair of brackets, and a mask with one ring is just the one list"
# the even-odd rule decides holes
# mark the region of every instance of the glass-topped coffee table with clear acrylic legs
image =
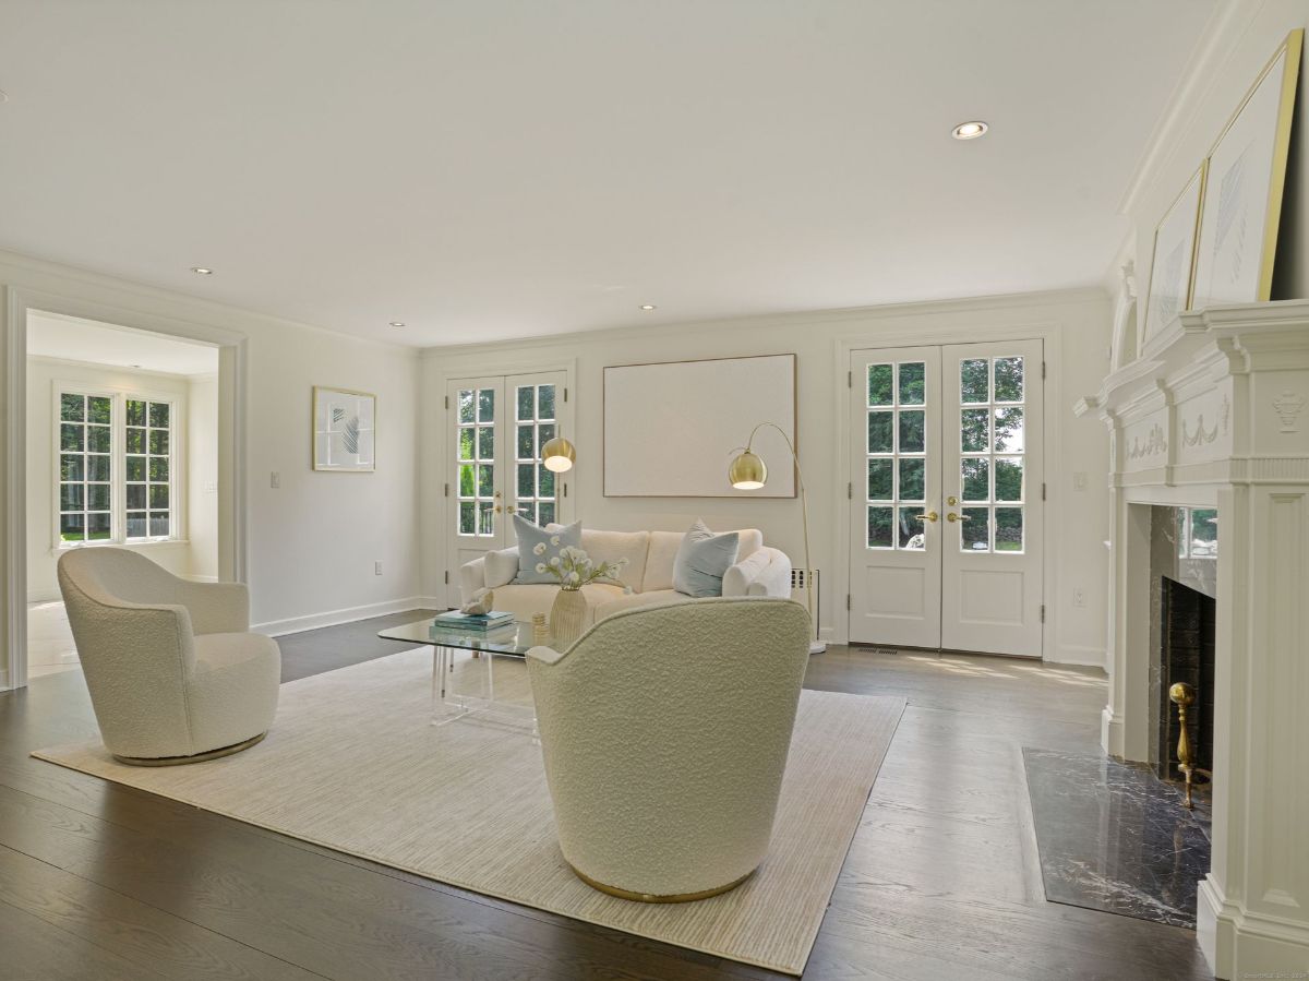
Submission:
[[537,707],[526,663],[528,651],[538,646],[531,623],[518,621],[486,633],[458,631],[435,627],[428,617],[378,630],[377,635],[432,648],[433,726],[476,714],[535,733]]

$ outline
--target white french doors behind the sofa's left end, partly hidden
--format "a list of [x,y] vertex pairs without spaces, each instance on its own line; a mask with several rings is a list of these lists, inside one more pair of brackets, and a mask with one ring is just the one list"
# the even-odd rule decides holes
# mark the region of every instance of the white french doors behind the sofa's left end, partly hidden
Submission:
[[541,372],[449,382],[450,602],[458,601],[459,566],[517,541],[509,515],[541,525],[568,517],[567,474],[547,470],[541,461],[541,448],[560,426],[572,428],[564,381],[564,372]]

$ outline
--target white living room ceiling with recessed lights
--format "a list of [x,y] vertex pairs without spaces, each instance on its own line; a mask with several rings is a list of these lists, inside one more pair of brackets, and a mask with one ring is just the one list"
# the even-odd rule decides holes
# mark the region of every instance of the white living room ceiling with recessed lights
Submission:
[[5,0],[0,248],[414,344],[1088,286],[1212,7]]

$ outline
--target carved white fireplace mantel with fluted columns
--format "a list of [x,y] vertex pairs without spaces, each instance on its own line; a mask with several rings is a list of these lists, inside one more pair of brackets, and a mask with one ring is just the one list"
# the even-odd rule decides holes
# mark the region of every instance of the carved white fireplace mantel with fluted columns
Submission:
[[1309,969],[1309,303],[1185,313],[1081,399],[1110,432],[1111,756],[1148,747],[1149,509],[1219,511],[1213,861],[1199,940],[1217,977]]

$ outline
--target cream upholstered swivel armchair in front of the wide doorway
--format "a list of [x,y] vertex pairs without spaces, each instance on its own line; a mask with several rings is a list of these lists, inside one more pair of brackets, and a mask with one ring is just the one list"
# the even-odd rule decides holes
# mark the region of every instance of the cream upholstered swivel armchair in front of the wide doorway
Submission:
[[64,553],[59,589],[117,760],[198,762],[263,739],[281,654],[249,633],[243,585],[190,583],[135,551],[97,546]]

